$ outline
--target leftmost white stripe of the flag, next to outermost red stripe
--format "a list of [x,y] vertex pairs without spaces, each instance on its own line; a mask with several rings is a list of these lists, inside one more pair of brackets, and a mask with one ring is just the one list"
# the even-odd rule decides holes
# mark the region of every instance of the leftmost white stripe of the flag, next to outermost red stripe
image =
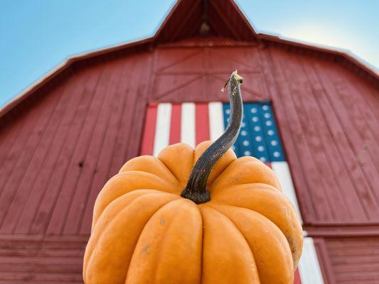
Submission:
[[156,113],[156,127],[154,136],[154,151],[156,156],[161,150],[169,146],[171,126],[171,104],[158,104]]

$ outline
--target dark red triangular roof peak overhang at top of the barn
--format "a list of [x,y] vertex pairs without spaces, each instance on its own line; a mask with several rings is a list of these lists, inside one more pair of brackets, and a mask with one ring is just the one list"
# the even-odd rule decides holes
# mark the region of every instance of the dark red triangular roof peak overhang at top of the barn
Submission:
[[154,38],[172,43],[193,37],[257,42],[257,34],[233,0],[178,0]]

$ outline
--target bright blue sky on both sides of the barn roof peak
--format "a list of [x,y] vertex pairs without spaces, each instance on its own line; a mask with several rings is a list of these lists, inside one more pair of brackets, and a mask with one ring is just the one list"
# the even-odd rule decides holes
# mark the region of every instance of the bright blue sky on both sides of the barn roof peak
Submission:
[[[379,0],[236,0],[257,32],[379,69]],[[174,0],[0,0],[0,107],[67,58],[154,35]]]

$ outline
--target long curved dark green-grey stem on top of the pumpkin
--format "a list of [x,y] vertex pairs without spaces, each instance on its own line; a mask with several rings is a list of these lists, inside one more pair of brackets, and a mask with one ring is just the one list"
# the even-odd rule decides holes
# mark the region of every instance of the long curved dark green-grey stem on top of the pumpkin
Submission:
[[[192,200],[196,204],[208,202],[210,195],[207,190],[207,181],[215,163],[233,146],[237,140],[242,122],[242,97],[240,84],[242,77],[237,75],[237,70],[230,75],[224,88],[229,83],[230,121],[223,135],[212,143],[207,150],[198,158],[193,166],[186,188],[181,196]],[[223,89],[224,89],[223,88]]]

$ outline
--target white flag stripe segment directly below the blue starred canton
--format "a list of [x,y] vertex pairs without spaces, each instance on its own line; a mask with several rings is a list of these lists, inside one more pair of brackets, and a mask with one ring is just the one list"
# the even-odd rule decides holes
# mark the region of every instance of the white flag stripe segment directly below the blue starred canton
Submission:
[[296,192],[294,189],[294,184],[292,182],[291,173],[289,172],[289,166],[287,162],[272,162],[271,168],[277,175],[280,185],[282,185],[284,195],[286,195],[289,198],[289,200],[291,200],[291,203],[294,204],[294,207],[297,210],[297,214],[299,214],[299,218],[302,223],[303,221],[301,219],[299,204],[297,203]]

